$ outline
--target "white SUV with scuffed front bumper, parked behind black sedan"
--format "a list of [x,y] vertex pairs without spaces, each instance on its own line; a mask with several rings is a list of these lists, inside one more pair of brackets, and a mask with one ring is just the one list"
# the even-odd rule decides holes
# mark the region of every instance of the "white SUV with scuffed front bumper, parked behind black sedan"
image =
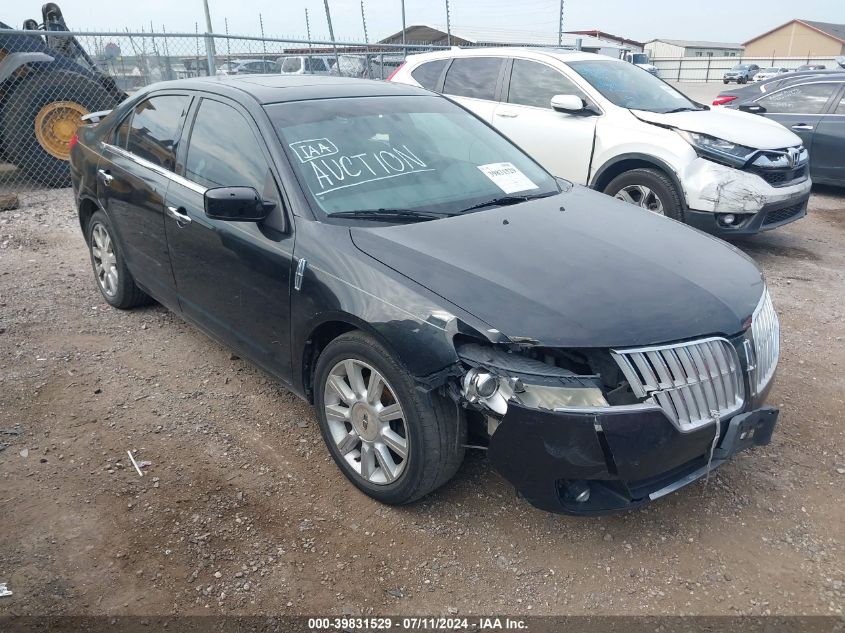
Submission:
[[808,154],[780,124],[710,109],[621,60],[557,50],[413,55],[391,81],[441,92],[555,176],[722,236],[806,214]]

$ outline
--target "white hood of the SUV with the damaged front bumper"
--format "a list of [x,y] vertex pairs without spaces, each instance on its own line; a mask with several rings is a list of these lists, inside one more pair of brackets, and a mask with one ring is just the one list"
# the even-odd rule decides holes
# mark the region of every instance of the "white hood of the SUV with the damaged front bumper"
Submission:
[[753,149],[782,149],[800,145],[801,139],[780,123],[748,112],[724,108],[663,114],[631,110],[648,123],[715,136]]

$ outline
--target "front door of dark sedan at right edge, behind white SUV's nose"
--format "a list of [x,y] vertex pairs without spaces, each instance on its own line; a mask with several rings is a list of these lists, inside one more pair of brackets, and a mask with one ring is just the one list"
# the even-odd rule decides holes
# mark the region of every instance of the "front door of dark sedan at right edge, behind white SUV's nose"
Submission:
[[816,127],[839,89],[834,82],[813,82],[790,85],[757,99],[763,106],[763,116],[777,121],[801,137],[810,152],[810,175],[815,169],[813,143]]

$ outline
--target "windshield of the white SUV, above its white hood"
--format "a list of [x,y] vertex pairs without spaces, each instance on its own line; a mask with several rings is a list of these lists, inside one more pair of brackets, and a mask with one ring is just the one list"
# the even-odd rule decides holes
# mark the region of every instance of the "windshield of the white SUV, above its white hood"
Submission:
[[669,84],[631,64],[613,61],[568,62],[614,105],[648,112],[700,110]]

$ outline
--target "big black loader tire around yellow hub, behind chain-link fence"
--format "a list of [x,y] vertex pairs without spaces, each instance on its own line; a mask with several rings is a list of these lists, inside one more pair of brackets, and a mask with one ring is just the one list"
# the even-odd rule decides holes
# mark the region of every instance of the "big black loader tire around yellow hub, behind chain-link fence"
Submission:
[[25,78],[14,87],[2,112],[6,158],[28,178],[53,187],[70,185],[68,162],[50,154],[35,136],[35,118],[54,102],[77,103],[89,112],[108,110],[117,99],[95,80],[70,71]]

